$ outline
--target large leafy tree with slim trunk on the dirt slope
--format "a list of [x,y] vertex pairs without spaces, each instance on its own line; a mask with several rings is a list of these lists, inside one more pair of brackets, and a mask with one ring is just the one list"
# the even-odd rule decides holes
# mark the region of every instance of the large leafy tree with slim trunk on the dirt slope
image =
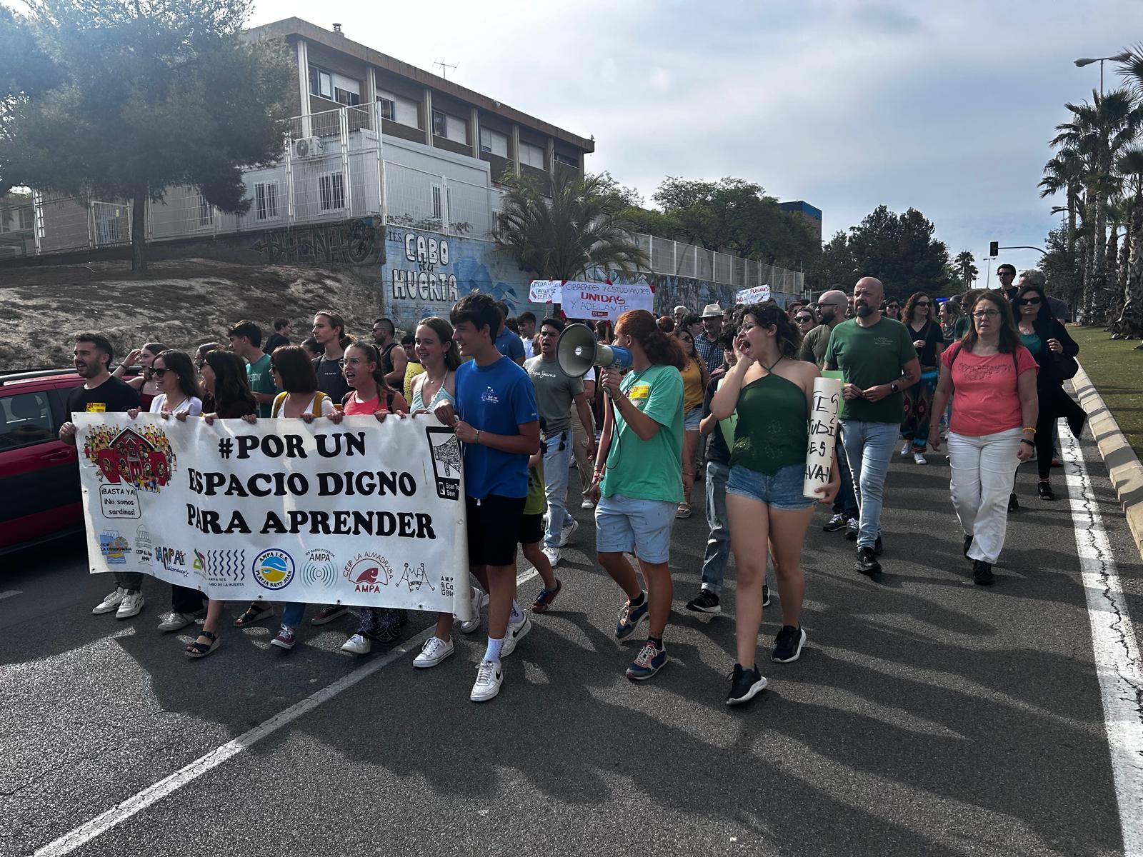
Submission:
[[144,202],[166,187],[245,213],[242,169],[281,157],[296,73],[285,46],[243,40],[250,6],[33,0],[0,15],[0,193],[134,200],[136,267]]

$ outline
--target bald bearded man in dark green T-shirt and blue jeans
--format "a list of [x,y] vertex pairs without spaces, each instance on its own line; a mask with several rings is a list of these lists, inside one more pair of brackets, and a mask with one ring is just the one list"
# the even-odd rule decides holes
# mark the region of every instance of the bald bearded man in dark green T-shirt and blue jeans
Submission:
[[841,442],[856,483],[861,526],[857,535],[858,571],[881,571],[881,495],[893,446],[904,418],[902,391],[921,376],[912,336],[900,321],[881,315],[885,287],[863,277],[854,287],[852,321],[830,335],[824,368],[841,370]]

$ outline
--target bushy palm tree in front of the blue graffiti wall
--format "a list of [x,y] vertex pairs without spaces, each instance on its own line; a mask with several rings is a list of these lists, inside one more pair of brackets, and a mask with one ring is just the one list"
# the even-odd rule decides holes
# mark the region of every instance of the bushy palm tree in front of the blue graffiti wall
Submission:
[[633,277],[650,267],[622,214],[628,203],[602,177],[555,171],[543,184],[509,174],[502,182],[496,246],[522,267],[550,280]]

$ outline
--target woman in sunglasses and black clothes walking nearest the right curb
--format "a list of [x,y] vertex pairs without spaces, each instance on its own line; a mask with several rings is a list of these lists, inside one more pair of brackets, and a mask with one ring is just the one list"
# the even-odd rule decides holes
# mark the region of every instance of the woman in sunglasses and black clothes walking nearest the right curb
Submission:
[[[1039,482],[1036,491],[1042,500],[1054,500],[1055,492],[1048,476],[1052,472],[1052,446],[1056,419],[1066,417],[1072,434],[1079,436],[1087,415],[1068,393],[1064,392],[1064,376],[1061,371],[1062,358],[1074,358],[1079,345],[1068,335],[1068,330],[1052,315],[1048,298],[1039,286],[1022,286],[1012,302],[1020,338],[1024,343],[1040,371],[1036,377],[1036,390],[1040,400],[1040,414],[1036,422],[1036,466]],[[1018,507],[1016,494],[1009,497],[1008,511]]]

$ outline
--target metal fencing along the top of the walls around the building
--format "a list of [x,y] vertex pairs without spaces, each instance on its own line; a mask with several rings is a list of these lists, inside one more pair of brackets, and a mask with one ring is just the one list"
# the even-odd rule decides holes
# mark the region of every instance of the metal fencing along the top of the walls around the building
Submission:
[[[371,216],[386,225],[494,240],[504,192],[493,186],[488,166],[470,167],[431,154],[407,153],[414,163],[383,158],[376,129],[379,113],[342,107],[294,117],[285,157],[243,174],[250,207],[226,214],[193,187],[168,187],[160,202],[146,202],[149,241],[165,241],[322,221]],[[398,155],[406,153],[392,147]],[[435,173],[424,167],[441,166]],[[451,174],[450,174],[451,171]],[[466,178],[459,177],[463,174]],[[477,181],[467,181],[478,178]],[[634,235],[656,274],[751,288],[769,283],[775,293],[800,295],[801,272],[708,250],[671,239]],[[33,193],[0,198],[0,259],[85,248],[127,245],[130,201],[45,198]]]

